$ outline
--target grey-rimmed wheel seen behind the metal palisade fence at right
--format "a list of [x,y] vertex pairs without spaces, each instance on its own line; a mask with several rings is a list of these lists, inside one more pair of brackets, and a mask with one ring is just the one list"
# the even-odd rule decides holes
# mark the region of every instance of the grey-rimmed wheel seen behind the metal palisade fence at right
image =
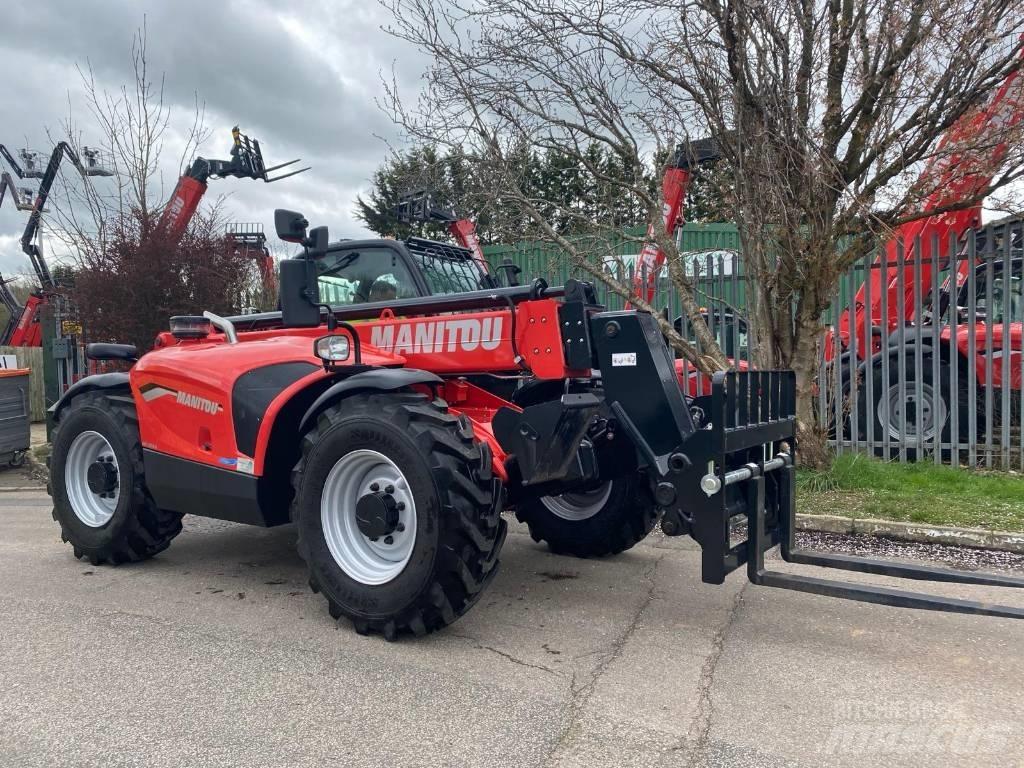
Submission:
[[[935,434],[939,433],[941,442],[948,442],[952,435],[952,398],[957,398],[957,433],[961,440],[966,440],[969,428],[969,411],[977,408],[977,403],[967,401],[965,373],[959,378],[961,391],[950,392],[949,362],[939,362],[939,378],[934,381],[933,358],[926,354],[922,358],[919,371],[914,355],[907,352],[903,360],[904,396],[901,398],[899,389],[900,362],[898,356],[890,358],[889,377],[886,380],[882,365],[877,362],[868,372],[873,377],[871,391],[872,402],[867,402],[867,388],[861,383],[857,399],[857,438],[866,440],[870,426],[874,439],[874,454],[884,456],[883,440],[889,435],[890,457],[899,456],[900,444],[906,442],[906,458],[908,461],[919,461],[933,451]],[[918,398],[918,380],[921,380],[921,398]],[[976,428],[981,433],[983,422],[978,422]],[[919,456],[915,446],[919,438],[924,442],[924,455]],[[943,451],[949,456],[949,451]]]

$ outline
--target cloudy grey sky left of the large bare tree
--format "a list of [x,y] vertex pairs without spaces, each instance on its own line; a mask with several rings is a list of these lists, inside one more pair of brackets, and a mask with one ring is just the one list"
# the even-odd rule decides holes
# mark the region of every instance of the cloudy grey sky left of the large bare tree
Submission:
[[[86,112],[76,65],[91,63],[98,85],[132,80],[132,36],[148,29],[152,73],[166,73],[171,128],[190,124],[194,100],[213,130],[200,154],[227,159],[230,128],[260,140],[268,165],[302,158],[312,170],[276,184],[213,180],[207,198],[229,196],[232,220],[262,221],[272,238],[273,209],[303,211],[332,239],[366,233],[352,216],[355,197],[385,158],[381,136],[396,131],[377,106],[381,73],[395,69],[415,92],[424,61],[380,27],[372,0],[28,0],[0,11],[0,143],[49,153],[69,111],[82,142],[100,136]],[[180,146],[163,157],[162,199],[177,180]],[[98,184],[102,183],[99,179]],[[28,267],[18,245],[25,213],[0,207],[0,271]]]

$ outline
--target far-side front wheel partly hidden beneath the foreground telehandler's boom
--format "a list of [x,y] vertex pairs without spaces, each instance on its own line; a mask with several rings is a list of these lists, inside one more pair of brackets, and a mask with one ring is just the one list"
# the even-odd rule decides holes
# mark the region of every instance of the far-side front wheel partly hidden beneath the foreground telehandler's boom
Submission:
[[577,557],[617,555],[639,543],[657,521],[654,500],[639,473],[608,480],[589,494],[522,501],[516,517],[535,542]]

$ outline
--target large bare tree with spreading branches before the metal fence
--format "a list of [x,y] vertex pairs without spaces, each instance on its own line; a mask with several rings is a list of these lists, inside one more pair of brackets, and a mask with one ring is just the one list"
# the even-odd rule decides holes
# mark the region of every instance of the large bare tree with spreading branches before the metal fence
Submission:
[[[585,163],[585,148],[598,143],[640,179],[679,142],[719,139],[756,361],[796,371],[802,456],[812,464],[826,456],[812,396],[820,318],[840,276],[892,227],[923,215],[936,184],[982,179],[958,184],[943,204],[951,208],[1024,172],[1020,125],[941,141],[1021,67],[1019,0],[384,2],[390,32],[432,58],[418,99],[387,84],[393,118],[415,140],[480,158],[482,186],[641,309],[656,307],[603,268],[613,256],[601,252],[602,222],[580,217],[592,238],[554,231],[523,194],[517,151],[555,147]],[[957,171],[965,157],[983,160]],[[928,168],[936,172],[919,181]],[[588,170],[595,183],[628,183]],[[657,193],[630,191],[657,220]],[[657,244],[697,344],[666,321],[663,330],[702,370],[726,367],[675,244],[662,236]]]

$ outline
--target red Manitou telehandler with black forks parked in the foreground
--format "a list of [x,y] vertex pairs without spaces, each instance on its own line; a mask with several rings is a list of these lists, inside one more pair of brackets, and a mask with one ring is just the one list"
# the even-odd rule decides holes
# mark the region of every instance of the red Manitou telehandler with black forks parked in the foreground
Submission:
[[[77,557],[151,557],[186,513],[294,522],[331,615],[393,639],[476,602],[497,570],[503,509],[544,515],[532,530],[556,548],[623,527],[639,539],[660,518],[666,535],[700,544],[711,584],[745,566],[766,586],[1024,617],[765,568],[779,547],[791,562],[1024,587],[796,549],[791,372],[718,374],[711,395],[688,401],[654,318],[605,311],[575,281],[332,306],[316,280],[327,227],[307,231],[290,211],[275,222],[307,256],[282,264],[280,312],[172,317],[129,372],[83,379],[51,409],[53,517]],[[137,357],[129,345],[89,352]],[[514,379],[557,392],[520,407],[499,386]],[[599,512],[560,506],[614,481],[630,494]]]

